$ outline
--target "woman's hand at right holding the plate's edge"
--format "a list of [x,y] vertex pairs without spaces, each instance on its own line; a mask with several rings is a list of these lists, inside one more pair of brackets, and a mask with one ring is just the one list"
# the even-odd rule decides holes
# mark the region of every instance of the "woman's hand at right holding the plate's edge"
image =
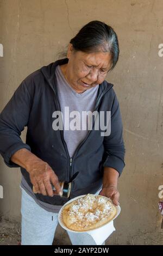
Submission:
[[115,186],[110,185],[103,187],[99,195],[109,197],[112,200],[112,203],[114,203],[116,206],[119,205],[118,200],[120,198],[120,193]]

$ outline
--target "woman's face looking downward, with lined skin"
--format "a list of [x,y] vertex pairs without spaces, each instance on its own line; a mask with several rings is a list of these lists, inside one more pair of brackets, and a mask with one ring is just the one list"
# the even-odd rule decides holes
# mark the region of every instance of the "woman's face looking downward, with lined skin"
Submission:
[[111,68],[111,54],[108,52],[84,53],[68,47],[68,63],[61,68],[65,78],[77,93],[83,93],[102,83]]

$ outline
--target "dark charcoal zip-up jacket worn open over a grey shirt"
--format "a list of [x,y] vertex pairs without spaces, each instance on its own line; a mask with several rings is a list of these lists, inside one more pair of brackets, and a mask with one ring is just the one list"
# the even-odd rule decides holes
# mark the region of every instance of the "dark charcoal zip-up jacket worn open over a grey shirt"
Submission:
[[[74,173],[79,172],[72,182],[69,198],[72,199],[95,193],[102,185],[105,166],[115,168],[121,174],[125,166],[125,149],[119,103],[113,85],[104,81],[99,84],[95,111],[99,116],[101,111],[111,111],[111,133],[101,136],[102,130],[93,126],[70,161],[63,131],[52,128],[52,114],[60,111],[55,68],[67,62],[67,58],[57,60],[22,81],[0,115],[0,153],[7,166],[19,167],[10,158],[17,150],[26,148],[47,162],[60,181],[69,181]],[[20,135],[25,126],[28,129],[26,143],[23,143]],[[32,188],[29,173],[22,167],[21,173]],[[62,205],[69,200],[42,194],[36,194],[36,197],[53,205]]]

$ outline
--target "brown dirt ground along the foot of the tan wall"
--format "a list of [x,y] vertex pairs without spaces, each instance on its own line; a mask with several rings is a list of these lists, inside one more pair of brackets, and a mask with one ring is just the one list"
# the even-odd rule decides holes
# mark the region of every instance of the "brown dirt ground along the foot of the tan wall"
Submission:
[[[8,220],[0,221],[0,245],[19,245],[21,241],[21,225]],[[118,232],[109,237],[106,245],[163,245],[163,230],[158,234],[140,233],[135,237],[129,236],[126,242],[118,241]],[[71,241],[64,229],[57,227],[53,245],[71,245]]]

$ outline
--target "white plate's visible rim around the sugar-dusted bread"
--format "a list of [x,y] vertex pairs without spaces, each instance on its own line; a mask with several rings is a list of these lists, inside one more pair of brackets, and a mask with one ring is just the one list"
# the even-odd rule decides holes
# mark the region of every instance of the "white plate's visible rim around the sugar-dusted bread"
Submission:
[[[81,197],[85,197],[85,196],[86,196],[86,195],[84,194],[83,196],[75,197],[75,198],[71,199],[70,201],[68,201],[66,204],[70,204],[70,203],[73,202],[74,200],[76,200],[76,199],[78,199],[78,198],[81,198]],[[104,196],[101,196],[101,197],[104,197]],[[108,197],[104,197],[104,198],[107,198],[107,199],[112,203],[112,201],[110,200],[110,198],[108,198]],[[61,225],[62,228],[64,228],[64,229],[67,230],[67,231],[71,231],[71,232],[73,232],[73,233],[85,233],[85,232],[89,233],[89,231],[97,230],[97,229],[99,229],[99,228],[102,228],[102,227],[104,227],[105,225],[107,225],[109,222],[115,220],[115,218],[117,218],[118,215],[119,215],[120,212],[121,212],[121,207],[120,207],[120,205],[118,205],[118,206],[115,205],[115,207],[116,207],[116,209],[117,209],[117,214],[116,214],[116,216],[115,216],[114,218],[112,218],[112,220],[108,221],[107,223],[101,225],[101,226],[98,227],[98,228],[94,228],[94,229],[87,230],[87,231],[74,231],[74,230],[72,230],[72,229],[67,228],[66,225],[65,225],[65,223],[64,223],[64,221],[63,221],[62,210],[64,209],[64,207],[65,207],[66,204],[64,204],[64,205],[62,206],[62,208],[60,209],[60,211],[59,211],[59,214],[58,214],[58,221],[59,221],[59,224]]]

